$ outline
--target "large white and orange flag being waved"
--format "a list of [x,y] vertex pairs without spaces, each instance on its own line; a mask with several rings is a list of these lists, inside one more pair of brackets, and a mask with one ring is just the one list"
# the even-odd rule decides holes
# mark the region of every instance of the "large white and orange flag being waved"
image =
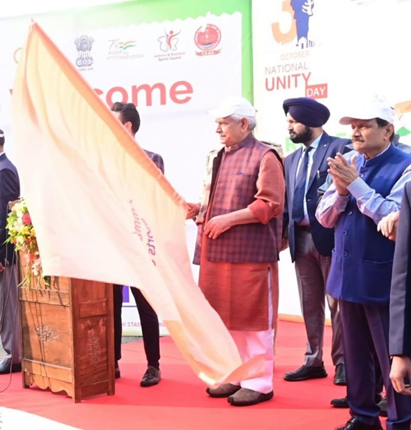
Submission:
[[45,275],[138,286],[207,385],[261,374],[194,282],[183,199],[36,23],[12,118]]

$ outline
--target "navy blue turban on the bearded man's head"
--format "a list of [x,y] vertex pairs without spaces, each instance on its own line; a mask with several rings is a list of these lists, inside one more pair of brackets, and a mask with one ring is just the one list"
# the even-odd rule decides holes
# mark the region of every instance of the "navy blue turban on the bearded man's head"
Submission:
[[284,112],[307,127],[321,127],[329,118],[329,110],[313,98],[288,98],[283,103]]

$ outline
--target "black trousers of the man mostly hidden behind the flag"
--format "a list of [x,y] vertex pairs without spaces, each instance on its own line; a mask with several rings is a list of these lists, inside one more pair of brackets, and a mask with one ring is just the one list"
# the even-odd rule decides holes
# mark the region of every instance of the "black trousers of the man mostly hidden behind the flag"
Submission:
[[[137,310],[139,311],[147,364],[148,366],[160,369],[160,329],[158,327],[157,314],[139,289],[134,286],[130,289],[136,301]],[[122,305],[123,285],[114,284],[114,355],[116,361],[121,359]]]

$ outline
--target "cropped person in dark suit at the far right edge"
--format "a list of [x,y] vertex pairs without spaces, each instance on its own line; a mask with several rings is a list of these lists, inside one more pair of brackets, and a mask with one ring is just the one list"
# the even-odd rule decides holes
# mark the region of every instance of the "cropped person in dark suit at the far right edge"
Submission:
[[389,353],[392,357],[391,373],[389,376],[394,390],[407,395],[411,395],[410,223],[411,182],[408,182],[404,187],[400,212],[387,215],[378,224],[378,229],[385,236],[391,240],[396,240],[389,298]]

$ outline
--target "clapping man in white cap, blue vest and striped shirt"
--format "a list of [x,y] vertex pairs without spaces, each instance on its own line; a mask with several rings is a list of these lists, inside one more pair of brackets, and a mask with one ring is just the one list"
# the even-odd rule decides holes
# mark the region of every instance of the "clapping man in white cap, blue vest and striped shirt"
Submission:
[[377,355],[387,392],[387,430],[410,430],[411,398],[389,380],[389,293],[394,243],[377,224],[398,210],[411,180],[411,155],[391,143],[394,111],[382,98],[357,103],[340,123],[351,125],[357,154],[329,158],[333,184],[316,211],[335,229],[327,293],[339,300],[351,419],[338,430],[382,430],[375,403]]

